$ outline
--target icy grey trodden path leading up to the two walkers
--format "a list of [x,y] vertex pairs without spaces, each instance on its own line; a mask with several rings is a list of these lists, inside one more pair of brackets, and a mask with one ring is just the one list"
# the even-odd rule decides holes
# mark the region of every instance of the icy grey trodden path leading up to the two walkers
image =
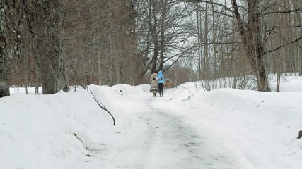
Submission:
[[147,111],[139,115],[148,130],[141,136],[145,141],[137,168],[234,168],[233,159],[213,151],[202,130],[165,106],[167,98],[151,98],[146,103]]

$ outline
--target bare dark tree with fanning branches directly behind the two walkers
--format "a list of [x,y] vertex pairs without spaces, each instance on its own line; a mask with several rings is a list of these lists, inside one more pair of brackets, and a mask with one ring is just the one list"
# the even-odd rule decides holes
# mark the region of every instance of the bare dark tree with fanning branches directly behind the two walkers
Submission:
[[139,50],[147,59],[146,69],[165,71],[191,48],[185,43],[192,25],[185,20],[189,14],[181,4],[168,0],[145,1],[140,10]]

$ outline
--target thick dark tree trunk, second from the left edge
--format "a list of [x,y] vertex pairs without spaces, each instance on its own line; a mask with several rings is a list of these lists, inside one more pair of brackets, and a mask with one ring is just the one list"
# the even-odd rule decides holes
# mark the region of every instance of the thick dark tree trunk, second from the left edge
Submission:
[[37,63],[42,77],[43,94],[58,92],[59,73],[59,3],[55,1],[33,1],[37,38]]

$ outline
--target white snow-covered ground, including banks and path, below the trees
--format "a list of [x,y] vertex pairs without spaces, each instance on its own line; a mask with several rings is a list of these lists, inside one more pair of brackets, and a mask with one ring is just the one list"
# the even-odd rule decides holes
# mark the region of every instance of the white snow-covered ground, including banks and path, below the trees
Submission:
[[[274,84],[272,84],[274,85]],[[153,98],[149,85],[89,86],[54,95],[11,89],[0,99],[1,169],[240,168],[302,166],[302,77],[281,92],[194,82]]]

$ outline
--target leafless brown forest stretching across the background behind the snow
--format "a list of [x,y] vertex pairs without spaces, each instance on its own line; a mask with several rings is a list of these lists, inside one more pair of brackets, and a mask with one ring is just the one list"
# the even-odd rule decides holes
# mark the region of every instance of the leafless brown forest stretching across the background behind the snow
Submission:
[[88,84],[175,84],[269,92],[301,75],[301,0],[1,0],[0,97]]

